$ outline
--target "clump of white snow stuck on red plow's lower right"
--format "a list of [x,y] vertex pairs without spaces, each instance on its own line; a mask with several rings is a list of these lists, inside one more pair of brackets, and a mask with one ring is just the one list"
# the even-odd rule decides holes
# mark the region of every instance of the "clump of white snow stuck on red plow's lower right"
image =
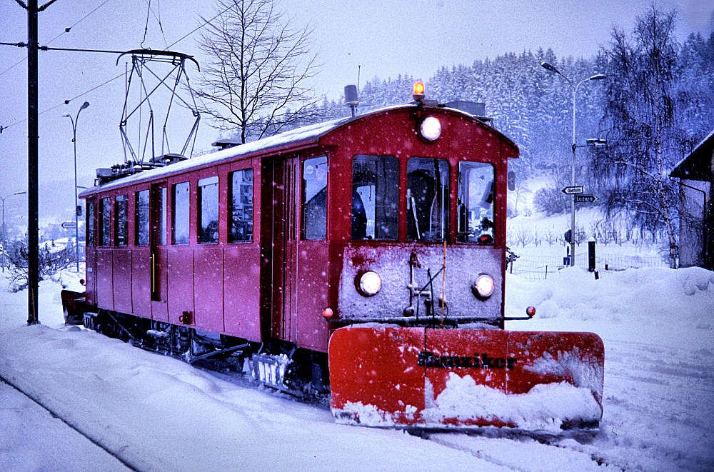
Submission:
[[433,427],[443,427],[451,418],[461,421],[481,418],[518,429],[556,432],[564,425],[595,423],[601,414],[590,388],[559,382],[536,385],[520,395],[506,395],[495,388],[477,385],[471,376],[461,377],[453,372],[433,406],[423,411],[427,426]]

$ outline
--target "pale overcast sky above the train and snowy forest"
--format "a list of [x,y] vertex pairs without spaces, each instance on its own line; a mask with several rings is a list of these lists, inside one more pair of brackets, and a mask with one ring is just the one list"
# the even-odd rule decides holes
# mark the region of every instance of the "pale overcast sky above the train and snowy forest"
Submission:
[[[57,0],[39,14],[39,42],[121,51],[164,49],[201,24],[199,16],[215,14],[212,1],[151,0],[154,14],[144,39],[148,4],[149,0]],[[710,1],[657,4],[678,9],[680,40],[692,31],[712,31]],[[375,76],[386,79],[398,74],[426,80],[440,66],[472,64],[476,59],[540,47],[550,47],[558,57],[591,56],[607,44],[613,25],[629,31],[650,1],[283,0],[278,6],[295,26],[313,26],[313,45],[323,64],[316,92],[338,99],[344,85],[356,84],[358,66],[363,85]],[[163,34],[154,15],[161,19]],[[16,1],[0,0],[0,41],[26,41],[26,23],[26,11]],[[200,63],[197,38],[192,34],[171,49],[194,54]],[[26,54],[26,49],[0,46],[0,125],[6,127],[0,134],[0,196],[26,189]],[[74,116],[84,101],[90,102],[77,129],[79,185],[91,185],[97,167],[123,161],[119,120],[124,80],[89,90],[121,74],[127,57],[116,66],[116,55],[39,51],[41,222],[50,216],[43,207],[54,200],[67,201],[67,209],[74,205],[68,180],[74,175],[72,129],[64,114]],[[196,70],[187,69],[195,83]],[[65,105],[66,99],[74,100]],[[217,136],[208,120],[202,121],[197,149],[207,149]],[[17,204],[25,196],[11,199]],[[70,218],[71,214],[64,216]]]

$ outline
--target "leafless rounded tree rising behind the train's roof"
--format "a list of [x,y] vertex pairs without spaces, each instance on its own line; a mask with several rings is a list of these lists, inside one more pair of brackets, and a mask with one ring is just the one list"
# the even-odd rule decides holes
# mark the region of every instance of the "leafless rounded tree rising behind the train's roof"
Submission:
[[317,72],[311,29],[291,29],[274,0],[218,0],[219,14],[201,36],[201,111],[242,143],[276,134],[316,104],[308,84]]

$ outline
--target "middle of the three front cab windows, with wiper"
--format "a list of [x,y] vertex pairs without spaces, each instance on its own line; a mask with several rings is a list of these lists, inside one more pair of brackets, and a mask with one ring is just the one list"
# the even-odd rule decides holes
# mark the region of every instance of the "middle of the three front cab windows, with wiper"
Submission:
[[413,157],[406,171],[407,238],[444,241],[449,228],[448,162]]

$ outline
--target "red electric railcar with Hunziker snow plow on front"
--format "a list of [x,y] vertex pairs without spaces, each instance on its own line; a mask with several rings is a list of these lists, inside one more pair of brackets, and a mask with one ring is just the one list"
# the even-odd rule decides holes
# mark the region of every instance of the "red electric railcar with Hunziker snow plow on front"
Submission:
[[597,411],[558,421],[597,423],[597,336],[502,330],[516,157],[485,120],[418,100],[98,171],[81,194],[85,325],[191,359],[248,359],[279,388],[331,386],[348,423],[524,427],[434,410],[466,376],[508,398],[567,383]]

